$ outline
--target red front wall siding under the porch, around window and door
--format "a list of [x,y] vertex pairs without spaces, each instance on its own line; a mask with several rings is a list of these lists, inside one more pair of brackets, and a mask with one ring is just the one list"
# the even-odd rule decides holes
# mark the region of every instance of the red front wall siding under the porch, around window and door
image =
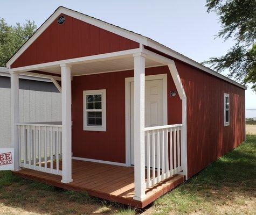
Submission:
[[[168,74],[168,91],[176,90],[168,67],[146,69],[146,75]],[[133,71],[76,76],[72,81],[73,156],[125,163],[125,78]],[[106,89],[107,131],[83,130],[83,90]],[[168,123],[181,123],[181,100],[168,97]]]

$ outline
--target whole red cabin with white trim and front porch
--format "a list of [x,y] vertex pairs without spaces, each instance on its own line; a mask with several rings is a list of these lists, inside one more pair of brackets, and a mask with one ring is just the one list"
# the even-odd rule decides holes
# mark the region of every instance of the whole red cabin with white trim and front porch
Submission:
[[[245,87],[150,38],[60,6],[8,61],[15,173],[144,207],[245,140]],[[19,74],[61,122],[19,121]]]

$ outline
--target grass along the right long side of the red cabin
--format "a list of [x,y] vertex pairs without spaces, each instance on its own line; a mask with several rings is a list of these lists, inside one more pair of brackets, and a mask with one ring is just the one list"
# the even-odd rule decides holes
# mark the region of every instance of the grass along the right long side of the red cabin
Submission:
[[256,214],[256,135],[158,198],[146,214]]

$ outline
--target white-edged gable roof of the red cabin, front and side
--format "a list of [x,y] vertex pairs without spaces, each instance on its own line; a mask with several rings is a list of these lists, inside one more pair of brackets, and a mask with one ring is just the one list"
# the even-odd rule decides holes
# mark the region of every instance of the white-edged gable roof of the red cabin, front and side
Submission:
[[211,68],[206,67],[203,64],[200,64],[200,63],[184,56],[183,54],[180,54],[180,53],[172,50],[171,48],[160,44],[159,42],[157,42],[153,39],[150,39],[148,37],[144,37],[141,34],[135,33],[133,31],[126,30],[126,29],[121,28],[119,26],[109,24],[106,21],[102,21],[100,19],[85,15],[84,13],[65,8],[64,6],[59,6],[59,8],[57,8],[56,11],[54,11],[48,19],[46,19],[46,21],[37,29],[37,31],[33,33],[33,35],[29,38],[29,40],[27,40],[23,44],[23,46],[18,49],[18,51],[15,54],[13,54],[13,56],[6,63],[6,66],[8,68],[10,68],[11,64],[26,50],[27,47],[29,47],[32,44],[32,42],[34,40],[36,40],[39,37],[39,35],[52,23],[53,20],[58,18],[58,16],[61,13],[64,13],[68,16],[71,16],[71,17],[77,18],[79,20],[85,21],[86,23],[95,25],[95,26],[100,27],[104,30],[110,31],[110,32],[115,33],[117,35],[120,35],[124,38],[139,42],[140,44],[142,44],[144,46],[154,48],[157,51],[160,51],[164,54],[167,54],[167,55],[171,56],[172,58],[175,58],[177,60],[188,63],[193,67],[196,67],[200,70],[205,71],[206,73],[209,73],[213,76],[219,77],[219,78],[221,78],[221,79],[223,79],[227,82],[230,82],[234,85],[237,85],[240,88],[247,89],[244,85],[241,85],[240,83],[238,83],[236,81],[233,81],[230,78],[227,78],[226,76],[224,76],[222,74],[217,73],[217,71],[212,70]]

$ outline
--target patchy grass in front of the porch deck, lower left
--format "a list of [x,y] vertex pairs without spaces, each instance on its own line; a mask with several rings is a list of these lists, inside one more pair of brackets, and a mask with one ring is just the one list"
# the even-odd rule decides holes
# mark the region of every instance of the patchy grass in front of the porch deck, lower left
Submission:
[[[6,211],[6,213],[5,213]],[[133,211],[133,213],[132,213]],[[134,209],[0,171],[2,214],[134,214]]]

